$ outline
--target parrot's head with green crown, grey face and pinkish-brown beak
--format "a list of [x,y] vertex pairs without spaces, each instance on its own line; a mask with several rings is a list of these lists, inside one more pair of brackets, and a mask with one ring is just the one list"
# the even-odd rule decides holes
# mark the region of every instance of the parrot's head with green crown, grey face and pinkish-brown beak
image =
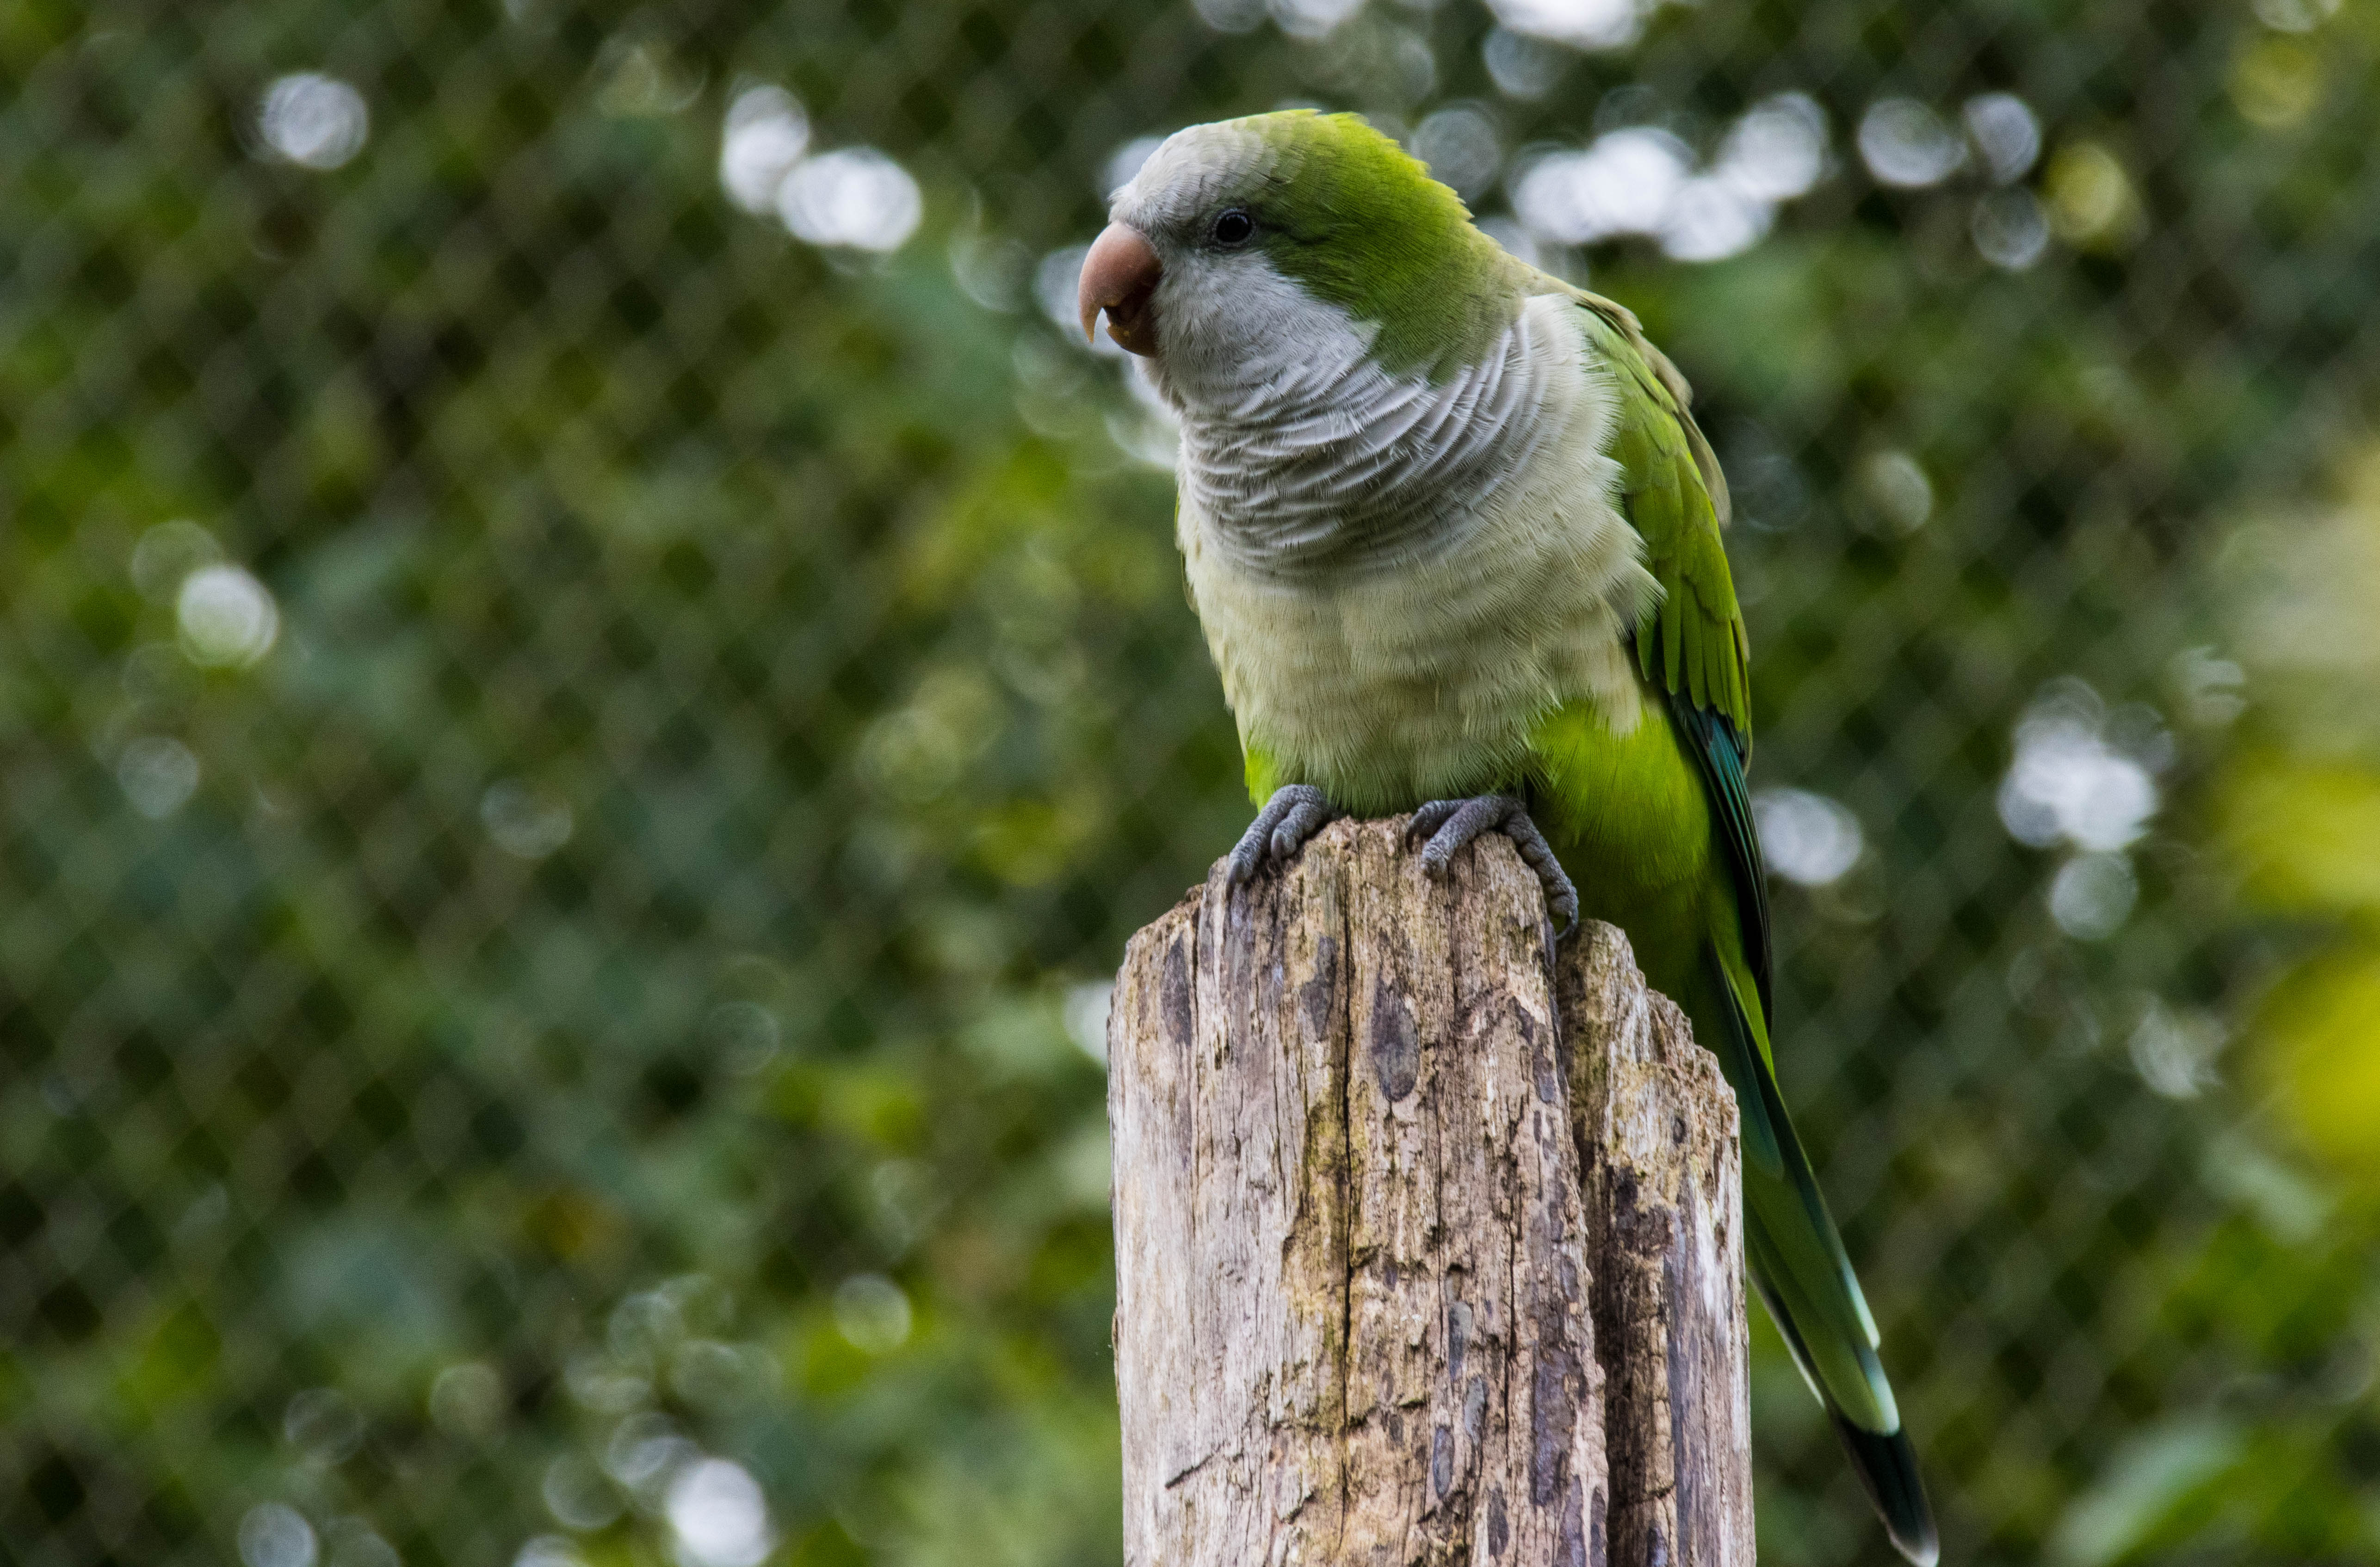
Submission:
[[1354,114],[1285,109],[1166,138],[1083,259],[1083,333],[1152,359],[1159,385],[1319,333],[1364,333],[1390,371],[1438,366],[1511,319],[1526,273],[1395,140]]

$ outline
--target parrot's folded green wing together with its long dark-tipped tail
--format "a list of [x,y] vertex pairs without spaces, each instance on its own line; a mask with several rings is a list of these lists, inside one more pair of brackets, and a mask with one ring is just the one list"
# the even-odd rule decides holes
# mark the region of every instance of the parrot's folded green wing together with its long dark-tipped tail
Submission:
[[1785,1118],[1768,1046],[1775,1006],[1768,885],[1745,782],[1752,644],[1718,535],[1728,521],[1728,483],[1687,411],[1692,390],[1645,340],[1637,319],[1597,295],[1580,292],[1578,302],[1616,378],[1611,454],[1621,464],[1621,504],[1645,540],[1645,566],[1661,583],[1661,602],[1635,628],[1637,666],[1666,692],[1678,744],[1702,773],[1735,894],[1733,918],[1711,932],[1704,954],[1706,989],[1723,999],[1721,1015],[1697,1018],[1697,1032],[1726,1068],[1742,1115],[1747,1260],[1894,1546],[1916,1562],[1933,1562],[1933,1512],[1892,1384],[1875,1358],[1875,1320],[1802,1139]]

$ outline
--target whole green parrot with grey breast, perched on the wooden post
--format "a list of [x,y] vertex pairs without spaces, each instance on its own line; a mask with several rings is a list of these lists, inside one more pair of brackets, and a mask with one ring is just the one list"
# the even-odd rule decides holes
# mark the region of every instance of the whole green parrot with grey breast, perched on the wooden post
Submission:
[[1433,870],[1504,832],[1564,930],[1628,932],[1735,1087],[1752,1279],[1930,1565],[1875,1320],[1778,1096],[1749,647],[1685,380],[1352,114],[1180,131],[1109,216],[1083,331],[1104,311],[1180,419],[1176,533],[1261,806],[1230,875],[1411,811]]

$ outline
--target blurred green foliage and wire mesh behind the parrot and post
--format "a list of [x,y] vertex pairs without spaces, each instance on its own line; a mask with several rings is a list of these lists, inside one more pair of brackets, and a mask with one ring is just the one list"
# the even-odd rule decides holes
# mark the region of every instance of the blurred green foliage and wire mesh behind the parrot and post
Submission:
[[1947,1560],[2380,1560],[2368,0],[12,0],[0,1560],[1119,1557],[1250,806],[1073,269],[1290,102],[1699,388]]

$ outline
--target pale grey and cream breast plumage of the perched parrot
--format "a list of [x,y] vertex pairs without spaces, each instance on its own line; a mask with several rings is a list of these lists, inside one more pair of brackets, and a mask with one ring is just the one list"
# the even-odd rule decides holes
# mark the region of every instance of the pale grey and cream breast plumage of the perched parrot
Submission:
[[1626,633],[1659,590],[1578,307],[1526,300],[1440,383],[1383,373],[1371,335],[1304,295],[1257,307],[1288,331],[1235,373],[1159,366],[1183,414],[1180,549],[1242,744],[1380,813],[1516,782],[1573,701],[1633,730]]

